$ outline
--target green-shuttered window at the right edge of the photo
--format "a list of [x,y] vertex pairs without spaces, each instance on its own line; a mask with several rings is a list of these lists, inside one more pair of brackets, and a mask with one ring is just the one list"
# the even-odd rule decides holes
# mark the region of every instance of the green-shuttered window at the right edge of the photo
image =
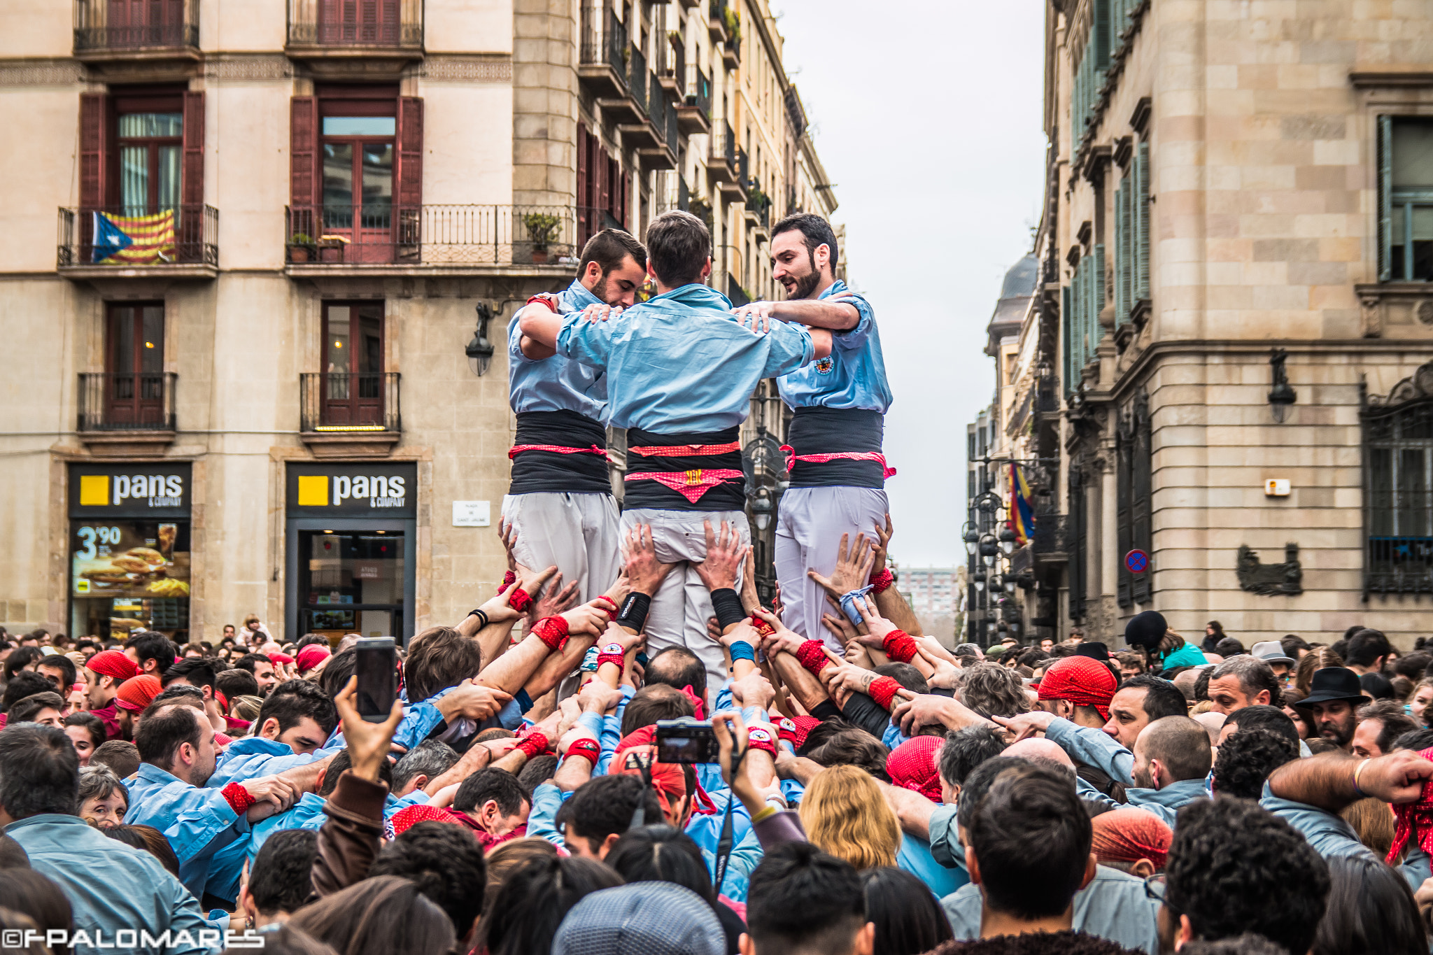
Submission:
[[1379,279],[1433,281],[1433,119],[1379,117]]

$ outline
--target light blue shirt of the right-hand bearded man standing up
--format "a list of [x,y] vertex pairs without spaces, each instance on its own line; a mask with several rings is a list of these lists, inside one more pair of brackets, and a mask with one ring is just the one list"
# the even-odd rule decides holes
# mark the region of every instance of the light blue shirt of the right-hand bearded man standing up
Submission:
[[[850,289],[837,279],[817,301],[841,292]],[[830,357],[777,378],[781,399],[792,408],[858,408],[886,414],[893,398],[876,309],[863,295],[853,294],[844,301],[856,306],[860,321],[854,328],[831,334]]]

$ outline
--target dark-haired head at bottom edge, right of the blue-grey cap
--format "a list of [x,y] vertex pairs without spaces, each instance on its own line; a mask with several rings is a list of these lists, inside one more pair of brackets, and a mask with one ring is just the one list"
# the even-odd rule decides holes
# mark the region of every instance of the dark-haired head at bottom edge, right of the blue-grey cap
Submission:
[[856,868],[810,842],[772,848],[751,872],[747,928],[761,949],[845,951],[864,922]]

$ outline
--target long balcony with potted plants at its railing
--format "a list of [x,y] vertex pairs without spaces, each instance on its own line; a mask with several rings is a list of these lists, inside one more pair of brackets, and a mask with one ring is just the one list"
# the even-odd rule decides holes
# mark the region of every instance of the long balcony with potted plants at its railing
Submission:
[[572,206],[289,206],[285,271],[334,275],[570,275]]

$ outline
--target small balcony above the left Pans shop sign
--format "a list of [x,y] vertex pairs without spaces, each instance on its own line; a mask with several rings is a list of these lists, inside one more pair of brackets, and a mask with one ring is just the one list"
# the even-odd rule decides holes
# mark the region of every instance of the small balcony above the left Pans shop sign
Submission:
[[158,454],[175,440],[173,372],[82,372],[80,441],[95,454]]

